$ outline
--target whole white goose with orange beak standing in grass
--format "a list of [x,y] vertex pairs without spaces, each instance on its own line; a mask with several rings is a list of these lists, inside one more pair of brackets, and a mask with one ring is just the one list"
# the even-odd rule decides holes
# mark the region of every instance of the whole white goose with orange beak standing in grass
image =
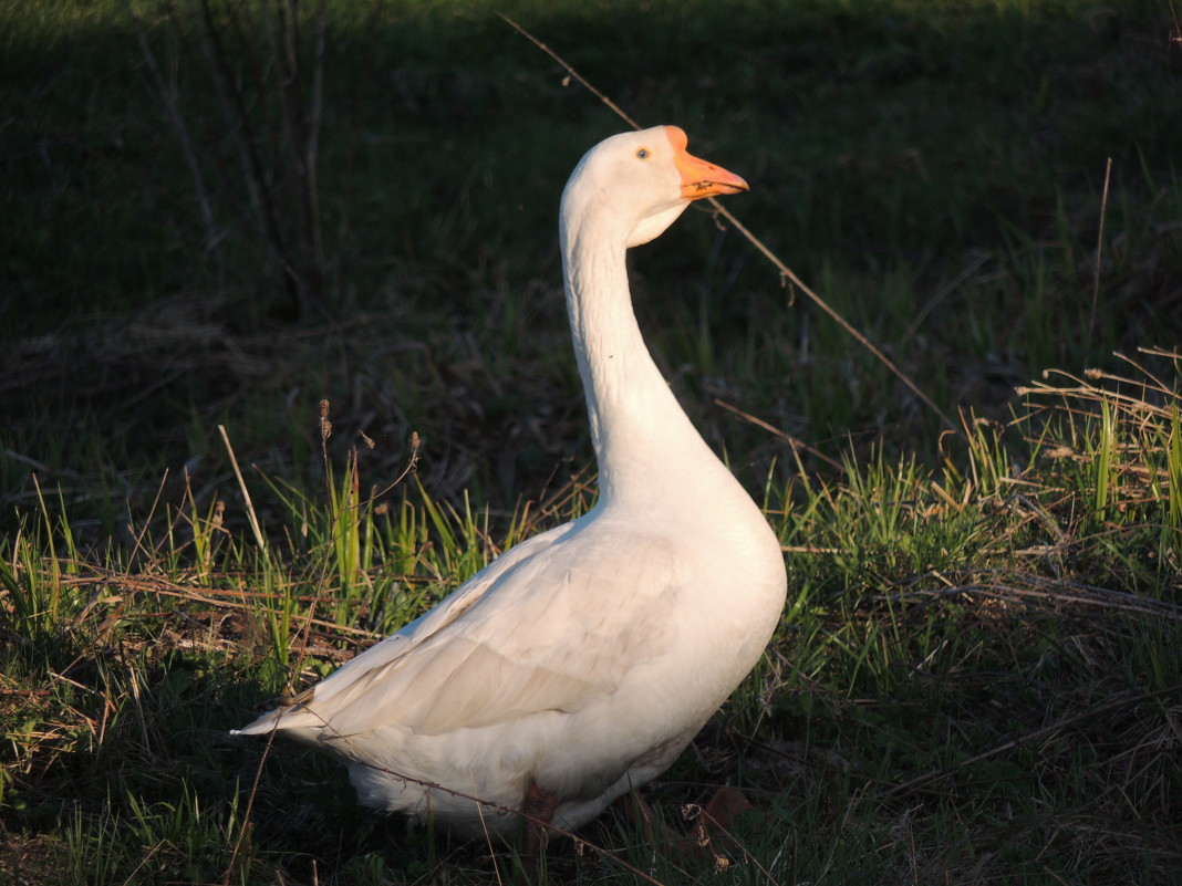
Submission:
[[563,193],[596,507],[240,734],[312,744],[362,803],[461,835],[519,828],[506,810],[576,828],[664,771],[751,671],[784,607],[780,548],[649,356],[624,267],[690,201],[747,189],[686,144],[613,136]]

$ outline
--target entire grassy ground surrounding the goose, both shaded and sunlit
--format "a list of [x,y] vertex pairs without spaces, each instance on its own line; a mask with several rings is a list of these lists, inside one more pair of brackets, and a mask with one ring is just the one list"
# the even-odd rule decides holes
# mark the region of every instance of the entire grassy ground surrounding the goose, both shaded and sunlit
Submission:
[[551,873],[1182,880],[1168,2],[333,1],[323,52],[314,5],[134,8],[0,9],[0,879],[514,875],[226,735],[592,500],[554,210],[623,124],[495,8],[955,422],[733,229],[638,252],[790,610],[652,790],[743,788],[726,873],[610,815]]

